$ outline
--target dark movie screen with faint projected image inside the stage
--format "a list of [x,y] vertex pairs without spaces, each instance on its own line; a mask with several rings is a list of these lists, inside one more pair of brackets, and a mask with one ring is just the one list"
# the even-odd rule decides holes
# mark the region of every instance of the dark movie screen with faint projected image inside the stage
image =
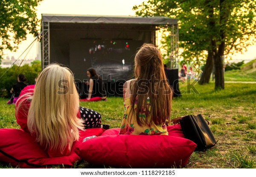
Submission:
[[135,40],[84,40],[84,67],[93,67],[106,81],[131,79],[134,56],[143,44]]

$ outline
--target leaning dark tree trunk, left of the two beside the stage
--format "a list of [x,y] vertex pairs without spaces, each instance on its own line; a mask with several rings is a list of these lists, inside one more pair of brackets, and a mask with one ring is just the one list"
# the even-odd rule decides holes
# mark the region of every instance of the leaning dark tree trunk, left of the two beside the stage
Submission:
[[213,53],[208,51],[206,64],[205,64],[202,76],[201,76],[201,78],[198,82],[199,84],[202,85],[202,84],[209,83],[211,73],[212,73],[212,69],[213,69]]

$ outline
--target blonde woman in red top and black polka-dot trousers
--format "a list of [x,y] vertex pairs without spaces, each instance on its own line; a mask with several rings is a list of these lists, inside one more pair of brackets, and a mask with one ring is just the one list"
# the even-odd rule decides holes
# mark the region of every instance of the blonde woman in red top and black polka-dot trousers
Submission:
[[[73,141],[79,139],[79,130],[89,124],[87,117],[100,116],[90,110],[93,111],[91,116],[89,109],[87,113],[85,109],[80,107],[79,110],[72,72],[67,67],[51,64],[39,74],[35,88],[28,86],[21,93],[16,104],[16,119],[21,129],[30,132],[49,157],[65,156],[70,154]],[[80,112],[84,119],[78,118]],[[97,124],[95,121],[86,128],[100,127],[100,121],[101,118]]]

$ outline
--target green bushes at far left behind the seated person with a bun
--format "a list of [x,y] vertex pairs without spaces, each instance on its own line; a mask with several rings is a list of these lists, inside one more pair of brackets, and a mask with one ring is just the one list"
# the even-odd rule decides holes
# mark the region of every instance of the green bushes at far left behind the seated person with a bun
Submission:
[[26,76],[27,84],[34,84],[35,78],[38,73],[41,72],[41,64],[23,65],[17,66],[13,65],[7,72],[8,68],[0,67],[0,97],[10,98],[13,84],[17,82],[17,77],[20,73]]

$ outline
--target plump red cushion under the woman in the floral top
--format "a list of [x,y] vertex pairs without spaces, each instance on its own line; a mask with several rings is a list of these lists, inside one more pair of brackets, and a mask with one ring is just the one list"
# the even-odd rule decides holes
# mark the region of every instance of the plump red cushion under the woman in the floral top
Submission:
[[[178,131],[178,126],[170,127]],[[117,135],[119,128],[108,129],[101,136],[76,147],[85,161],[123,168],[180,168],[186,165],[196,148],[191,140],[167,135]],[[172,134],[169,133],[169,134]]]

